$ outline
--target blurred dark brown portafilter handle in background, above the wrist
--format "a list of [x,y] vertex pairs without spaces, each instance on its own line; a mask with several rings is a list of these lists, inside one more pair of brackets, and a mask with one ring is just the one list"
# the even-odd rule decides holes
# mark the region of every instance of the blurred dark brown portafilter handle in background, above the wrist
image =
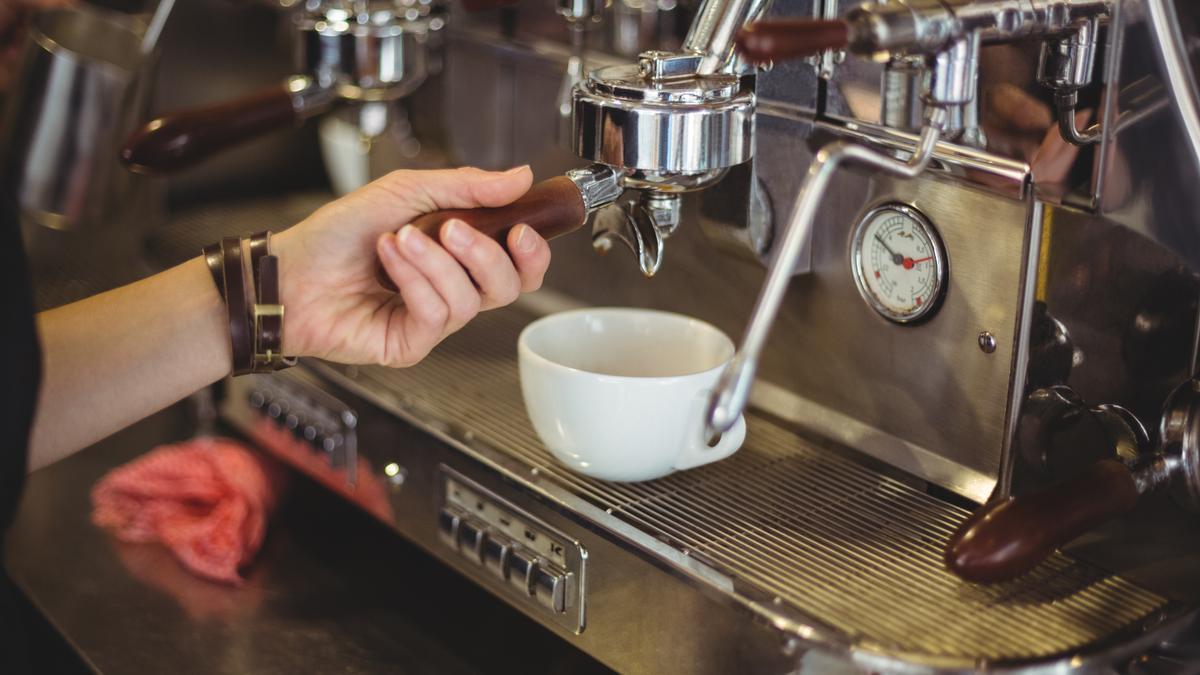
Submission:
[[172,173],[269,131],[296,123],[282,86],[150,121],[125,142],[121,161],[138,173]]

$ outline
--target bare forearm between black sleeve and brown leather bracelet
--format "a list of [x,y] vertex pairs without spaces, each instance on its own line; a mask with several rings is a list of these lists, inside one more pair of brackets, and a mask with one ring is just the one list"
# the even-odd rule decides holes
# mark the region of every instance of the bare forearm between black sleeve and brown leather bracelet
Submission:
[[30,468],[223,377],[232,359],[228,325],[200,258],[41,312],[43,372]]

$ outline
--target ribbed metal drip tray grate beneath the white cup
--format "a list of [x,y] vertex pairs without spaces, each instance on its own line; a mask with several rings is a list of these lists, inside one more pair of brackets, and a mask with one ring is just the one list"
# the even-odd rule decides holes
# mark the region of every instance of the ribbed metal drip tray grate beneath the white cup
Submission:
[[[731,459],[640,484],[558,465],[521,400],[516,336],[529,317],[488,312],[407,370],[358,383],[458,429],[616,518],[778,598],[854,644],[919,661],[1028,661],[1105,641],[1168,598],[1056,555],[1019,583],[947,573],[942,548],[967,512],[750,417]],[[739,591],[742,592],[742,591]]]

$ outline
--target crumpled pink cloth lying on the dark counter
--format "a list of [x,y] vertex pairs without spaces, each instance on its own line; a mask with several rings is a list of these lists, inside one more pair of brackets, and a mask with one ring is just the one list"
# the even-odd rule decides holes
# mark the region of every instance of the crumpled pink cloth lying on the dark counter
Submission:
[[122,542],[161,542],[191,572],[227,584],[258,552],[282,474],[229,438],[155,448],[91,491],[92,522]]

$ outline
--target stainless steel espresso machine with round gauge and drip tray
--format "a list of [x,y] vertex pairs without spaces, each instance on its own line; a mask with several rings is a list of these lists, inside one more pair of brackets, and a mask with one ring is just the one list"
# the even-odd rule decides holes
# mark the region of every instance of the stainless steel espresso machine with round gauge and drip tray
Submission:
[[[553,232],[593,246],[415,368],[238,378],[232,423],[622,671],[1195,668],[1200,10],[529,0],[445,34],[458,160],[565,174]],[[742,335],[708,416],[742,450],[556,464],[516,335],[578,304]]]

